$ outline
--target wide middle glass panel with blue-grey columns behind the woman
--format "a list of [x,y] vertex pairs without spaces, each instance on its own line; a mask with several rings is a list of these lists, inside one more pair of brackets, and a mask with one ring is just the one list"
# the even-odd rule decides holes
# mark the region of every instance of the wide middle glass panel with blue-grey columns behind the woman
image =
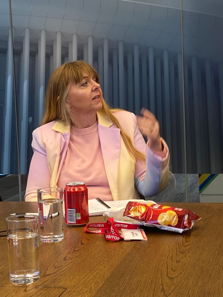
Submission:
[[[180,0],[13,1],[21,173],[32,157],[32,131],[41,123],[52,72],[84,60],[100,76],[111,107],[148,108],[169,147],[178,180],[154,199],[184,201],[183,69]],[[171,176],[172,184],[175,184]],[[173,194],[176,195],[175,198]]]

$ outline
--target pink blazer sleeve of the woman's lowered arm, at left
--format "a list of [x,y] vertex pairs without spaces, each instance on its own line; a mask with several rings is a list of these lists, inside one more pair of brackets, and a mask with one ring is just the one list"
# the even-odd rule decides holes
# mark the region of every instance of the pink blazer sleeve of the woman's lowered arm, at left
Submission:
[[39,142],[37,129],[32,133],[32,149],[34,154],[29,167],[25,201],[37,201],[37,189],[50,187],[51,180],[46,151]]

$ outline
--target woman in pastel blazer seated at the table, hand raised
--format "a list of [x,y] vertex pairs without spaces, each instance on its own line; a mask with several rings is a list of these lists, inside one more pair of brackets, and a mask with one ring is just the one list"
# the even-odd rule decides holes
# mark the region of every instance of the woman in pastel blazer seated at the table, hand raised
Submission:
[[72,181],[86,183],[89,199],[151,197],[169,180],[169,150],[155,116],[109,109],[97,72],[83,61],[63,64],[51,76],[32,148],[26,201],[36,201],[39,188]]

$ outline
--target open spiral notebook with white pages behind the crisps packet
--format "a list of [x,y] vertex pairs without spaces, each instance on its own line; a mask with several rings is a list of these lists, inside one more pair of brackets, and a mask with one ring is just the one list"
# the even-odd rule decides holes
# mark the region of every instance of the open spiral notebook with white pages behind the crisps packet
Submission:
[[101,216],[108,208],[125,207],[130,200],[102,201],[100,198],[88,200],[89,216]]

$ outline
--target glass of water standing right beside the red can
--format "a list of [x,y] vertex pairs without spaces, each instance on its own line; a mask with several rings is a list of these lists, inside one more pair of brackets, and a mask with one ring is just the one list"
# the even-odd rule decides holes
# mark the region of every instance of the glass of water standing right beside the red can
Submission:
[[42,188],[37,190],[40,240],[59,242],[64,239],[63,189]]

